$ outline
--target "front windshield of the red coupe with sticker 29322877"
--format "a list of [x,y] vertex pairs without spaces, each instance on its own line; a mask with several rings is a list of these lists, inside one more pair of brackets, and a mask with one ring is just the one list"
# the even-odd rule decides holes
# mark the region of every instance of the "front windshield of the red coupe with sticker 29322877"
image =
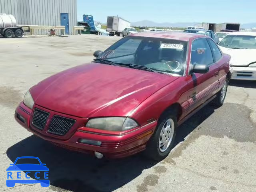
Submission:
[[126,67],[136,65],[141,66],[137,69],[182,76],[186,53],[186,41],[130,36],[110,46],[96,61],[107,60]]

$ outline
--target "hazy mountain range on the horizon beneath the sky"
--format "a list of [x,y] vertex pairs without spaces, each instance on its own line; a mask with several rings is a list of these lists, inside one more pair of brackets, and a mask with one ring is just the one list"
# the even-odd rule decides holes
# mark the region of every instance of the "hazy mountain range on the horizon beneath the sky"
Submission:
[[[148,26],[148,27],[187,27],[187,26],[194,26],[195,22],[183,22],[183,23],[169,23],[169,22],[164,22],[164,23],[157,23],[153,22],[150,20],[142,20],[138,22],[132,22],[132,26]],[[255,23],[246,23],[246,24],[241,24],[240,28],[254,28],[256,27],[256,22]]]

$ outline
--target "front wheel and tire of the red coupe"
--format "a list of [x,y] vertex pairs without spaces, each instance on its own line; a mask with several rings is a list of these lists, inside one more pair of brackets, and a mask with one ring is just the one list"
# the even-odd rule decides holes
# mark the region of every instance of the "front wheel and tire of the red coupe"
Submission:
[[177,129],[176,115],[164,113],[158,120],[156,130],[150,140],[144,154],[155,161],[163,160],[173,148]]

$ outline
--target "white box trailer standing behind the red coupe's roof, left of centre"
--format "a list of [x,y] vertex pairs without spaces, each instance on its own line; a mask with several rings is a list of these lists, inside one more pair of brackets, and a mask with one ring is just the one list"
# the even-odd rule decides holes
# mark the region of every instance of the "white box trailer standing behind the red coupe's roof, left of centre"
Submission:
[[127,20],[124,20],[120,17],[110,17],[108,16],[107,19],[107,31],[109,32],[109,35],[117,35],[122,36],[122,31],[125,28],[129,28],[131,26],[131,23]]

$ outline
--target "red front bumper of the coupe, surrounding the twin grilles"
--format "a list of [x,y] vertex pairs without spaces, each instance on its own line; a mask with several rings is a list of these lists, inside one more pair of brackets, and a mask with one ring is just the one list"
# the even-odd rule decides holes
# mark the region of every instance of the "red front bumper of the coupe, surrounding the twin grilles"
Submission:
[[[144,150],[146,148],[146,142],[152,136],[157,124],[154,121],[126,132],[107,132],[85,127],[84,125],[88,119],[60,114],[40,106],[36,106],[36,108],[50,113],[47,120],[48,123],[46,123],[43,130],[39,130],[33,126],[33,110],[26,107],[23,102],[16,108],[16,121],[28,131],[57,146],[89,154],[94,154],[97,151],[108,158],[122,158]],[[54,115],[76,119],[76,124],[64,136],[50,134],[47,132],[48,125]],[[100,145],[84,144],[80,142],[81,139],[98,141]]]

